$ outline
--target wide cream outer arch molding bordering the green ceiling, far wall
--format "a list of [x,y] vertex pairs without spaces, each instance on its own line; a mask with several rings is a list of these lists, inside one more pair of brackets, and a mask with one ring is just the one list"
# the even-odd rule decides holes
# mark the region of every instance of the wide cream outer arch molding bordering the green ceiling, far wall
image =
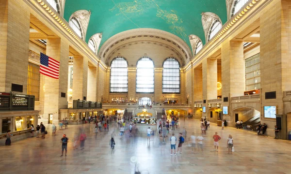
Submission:
[[192,58],[192,52],[187,43],[178,36],[160,29],[131,29],[115,34],[101,46],[98,55],[104,60],[104,62],[106,62],[107,58],[109,58],[110,52],[115,50],[113,47],[118,43],[130,39],[140,41],[137,39],[145,40],[145,38],[150,38],[151,42],[166,41],[168,43],[167,45],[173,46],[176,51],[183,55],[184,62],[189,61],[189,59]]

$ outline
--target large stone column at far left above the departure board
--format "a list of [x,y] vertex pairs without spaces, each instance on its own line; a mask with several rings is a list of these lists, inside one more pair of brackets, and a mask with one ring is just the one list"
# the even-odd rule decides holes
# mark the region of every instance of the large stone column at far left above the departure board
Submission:
[[25,6],[23,0],[0,0],[0,92],[17,84],[27,94],[30,12]]

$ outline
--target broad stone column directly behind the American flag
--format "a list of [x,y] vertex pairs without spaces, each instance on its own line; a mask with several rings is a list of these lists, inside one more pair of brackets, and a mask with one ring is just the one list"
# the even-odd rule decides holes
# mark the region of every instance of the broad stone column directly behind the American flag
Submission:
[[60,38],[49,38],[47,40],[47,56],[60,62],[59,79],[40,74],[42,83],[40,87],[40,98],[43,98],[44,119],[49,121],[49,114],[53,114],[53,123],[58,124],[59,109],[67,108],[67,95],[61,97],[61,93],[67,93],[68,83],[68,57],[69,44]]

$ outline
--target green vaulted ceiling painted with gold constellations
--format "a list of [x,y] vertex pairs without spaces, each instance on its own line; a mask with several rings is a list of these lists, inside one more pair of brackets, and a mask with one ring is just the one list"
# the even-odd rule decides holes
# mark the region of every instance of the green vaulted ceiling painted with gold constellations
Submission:
[[202,12],[217,14],[223,24],[227,20],[226,0],[66,0],[65,19],[78,10],[91,11],[86,42],[102,32],[100,45],[122,31],[152,28],[171,32],[190,46],[190,34],[205,43]]

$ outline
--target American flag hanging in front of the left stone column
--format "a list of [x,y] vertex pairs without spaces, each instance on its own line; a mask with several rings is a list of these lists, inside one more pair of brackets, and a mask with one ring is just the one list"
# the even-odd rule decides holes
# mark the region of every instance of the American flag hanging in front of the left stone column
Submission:
[[40,53],[39,73],[47,75],[51,78],[59,79],[60,62]]

